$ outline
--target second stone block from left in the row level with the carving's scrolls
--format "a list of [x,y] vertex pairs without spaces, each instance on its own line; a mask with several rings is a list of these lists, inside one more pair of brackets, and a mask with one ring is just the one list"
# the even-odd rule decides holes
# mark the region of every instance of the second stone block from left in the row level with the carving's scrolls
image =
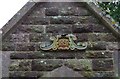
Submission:
[[35,44],[32,43],[17,43],[16,51],[35,51]]

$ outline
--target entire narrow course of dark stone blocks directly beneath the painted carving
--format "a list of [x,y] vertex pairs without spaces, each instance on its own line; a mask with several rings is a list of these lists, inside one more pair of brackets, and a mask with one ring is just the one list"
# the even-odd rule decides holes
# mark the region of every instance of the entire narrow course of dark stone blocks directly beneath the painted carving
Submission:
[[11,59],[85,59],[85,58],[112,58],[111,51],[72,51],[72,52],[15,52],[11,53]]

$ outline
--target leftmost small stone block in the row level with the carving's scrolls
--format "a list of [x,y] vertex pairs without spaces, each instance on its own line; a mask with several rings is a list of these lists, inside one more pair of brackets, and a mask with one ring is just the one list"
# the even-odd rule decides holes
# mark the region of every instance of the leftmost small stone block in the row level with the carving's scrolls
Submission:
[[14,51],[15,50],[15,44],[10,42],[4,42],[2,43],[2,51]]

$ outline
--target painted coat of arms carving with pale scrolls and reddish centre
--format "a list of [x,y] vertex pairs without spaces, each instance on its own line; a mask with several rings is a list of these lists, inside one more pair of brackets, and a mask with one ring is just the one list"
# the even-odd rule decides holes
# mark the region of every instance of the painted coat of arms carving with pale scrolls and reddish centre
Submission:
[[86,42],[74,42],[77,40],[76,36],[73,34],[67,35],[57,35],[55,37],[50,37],[52,41],[51,44],[41,43],[40,48],[42,50],[84,50],[87,48]]

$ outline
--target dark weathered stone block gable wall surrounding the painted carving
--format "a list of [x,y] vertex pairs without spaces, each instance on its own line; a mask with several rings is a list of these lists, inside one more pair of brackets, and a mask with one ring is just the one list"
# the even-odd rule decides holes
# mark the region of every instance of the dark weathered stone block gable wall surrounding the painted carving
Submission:
[[[14,28],[13,28],[14,29]],[[84,51],[50,52],[40,49],[51,36],[74,34],[87,42]],[[113,54],[118,40],[87,10],[85,3],[36,3],[6,38],[3,51],[12,52],[10,77],[41,77],[63,64],[85,77],[113,77]]]

